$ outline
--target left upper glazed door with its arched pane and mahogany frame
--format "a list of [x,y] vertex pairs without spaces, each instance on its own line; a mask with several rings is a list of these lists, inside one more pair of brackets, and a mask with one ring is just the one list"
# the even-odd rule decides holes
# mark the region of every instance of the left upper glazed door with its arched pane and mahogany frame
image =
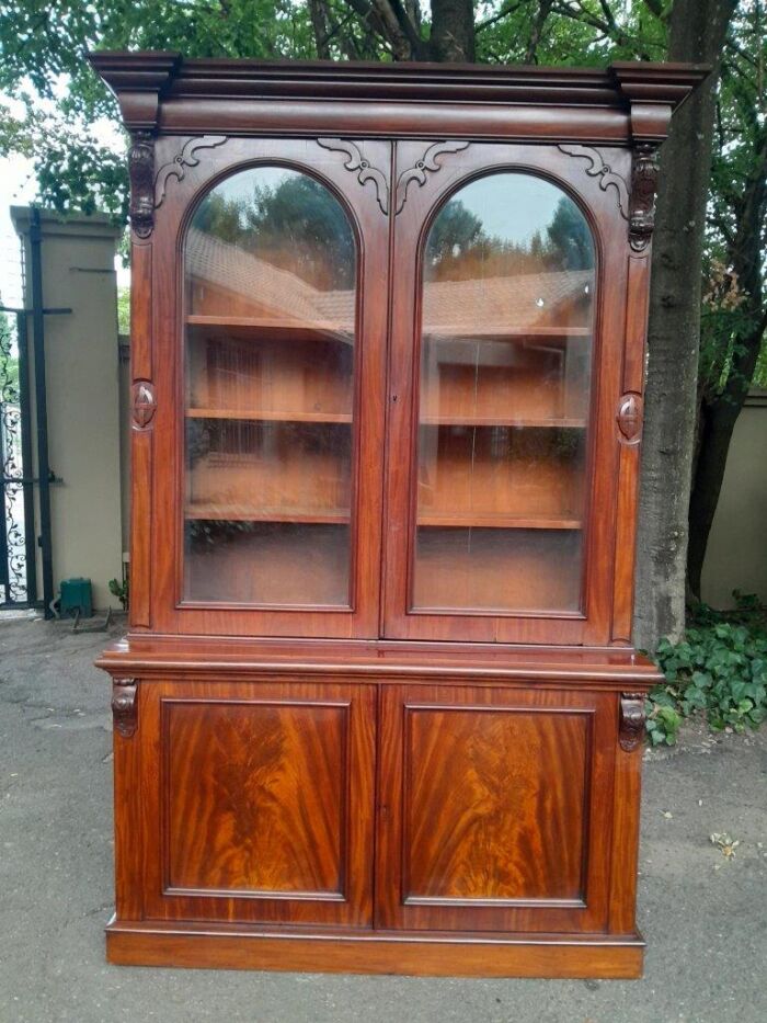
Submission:
[[156,630],[377,632],[390,145],[359,144],[371,181],[337,143],[160,144],[151,508],[141,458],[135,489]]

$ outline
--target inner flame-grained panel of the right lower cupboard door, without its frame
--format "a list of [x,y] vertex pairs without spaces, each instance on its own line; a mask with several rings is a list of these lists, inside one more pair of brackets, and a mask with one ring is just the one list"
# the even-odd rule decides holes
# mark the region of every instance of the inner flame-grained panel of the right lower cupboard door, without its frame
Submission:
[[591,717],[407,706],[405,901],[582,905]]

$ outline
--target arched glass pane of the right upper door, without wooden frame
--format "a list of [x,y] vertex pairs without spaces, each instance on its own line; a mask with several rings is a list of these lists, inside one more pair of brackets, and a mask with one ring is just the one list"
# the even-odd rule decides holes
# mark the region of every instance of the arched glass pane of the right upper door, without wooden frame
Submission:
[[412,604],[577,611],[594,243],[572,200],[499,173],[424,253]]

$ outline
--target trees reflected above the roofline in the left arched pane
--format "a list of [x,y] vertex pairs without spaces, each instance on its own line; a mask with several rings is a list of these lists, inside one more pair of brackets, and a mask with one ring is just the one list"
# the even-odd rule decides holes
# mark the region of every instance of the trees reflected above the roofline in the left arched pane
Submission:
[[286,172],[276,185],[253,180],[251,198],[211,192],[194,227],[295,273],[320,291],[354,287],[355,243],[341,204],[313,178]]

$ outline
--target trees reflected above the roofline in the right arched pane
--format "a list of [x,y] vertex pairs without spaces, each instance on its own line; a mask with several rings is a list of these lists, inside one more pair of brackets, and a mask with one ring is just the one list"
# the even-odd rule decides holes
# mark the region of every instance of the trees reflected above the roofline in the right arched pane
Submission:
[[594,265],[594,246],[583,214],[565,195],[549,224],[523,242],[490,235],[482,220],[454,198],[434,221],[426,265],[431,281],[588,270]]

